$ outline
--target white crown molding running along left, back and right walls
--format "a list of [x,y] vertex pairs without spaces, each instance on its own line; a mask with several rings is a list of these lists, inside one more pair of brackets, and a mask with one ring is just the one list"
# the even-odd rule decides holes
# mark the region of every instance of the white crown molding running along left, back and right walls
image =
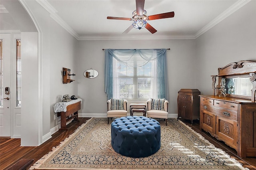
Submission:
[[251,0],[238,0],[232,6],[230,6],[227,10],[222,12],[219,16],[217,16],[214,20],[212,20],[209,24],[204,26],[201,30],[199,30],[195,35],[184,35],[184,36],[79,36],[58,14],[58,11],[47,1],[47,0],[36,0],[38,4],[40,4],[43,8],[45,8],[50,16],[62,26],[67,32],[69,32],[76,40],[182,40],[182,39],[196,39],[222,20],[230,16],[232,13],[236,12],[242,6],[250,2]]

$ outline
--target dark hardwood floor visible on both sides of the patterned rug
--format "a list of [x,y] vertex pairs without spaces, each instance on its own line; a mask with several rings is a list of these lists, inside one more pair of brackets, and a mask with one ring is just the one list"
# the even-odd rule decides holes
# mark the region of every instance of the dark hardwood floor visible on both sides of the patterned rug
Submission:
[[[34,164],[38,159],[51,151],[52,147],[58,146],[62,140],[68,137],[74,130],[76,130],[76,128],[85,123],[88,119],[89,118],[79,118],[79,122],[72,122],[67,125],[68,130],[54,133],[52,138],[36,147],[20,146],[20,139],[0,138],[0,170],[7,170],[21,159],[34,159],[34,162],[32,163]],[[199,128],[199,121],[194,121],[193,125],[191,125],[190,121],[182,121],[196,132],[202,134],[204,138],[209,140],[217,148],[221,148],[232,158],[238,160],[244,167],[250,170],[256,170],[256,157],[241,159],[237,156],[236,150],[230,148],[224,142],[216,140],[210,134],[201,131]]]

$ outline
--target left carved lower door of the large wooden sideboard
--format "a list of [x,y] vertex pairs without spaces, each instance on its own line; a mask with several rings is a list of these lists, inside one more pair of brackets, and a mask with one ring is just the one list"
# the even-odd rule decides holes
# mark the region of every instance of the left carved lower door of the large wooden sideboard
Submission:
[[216,131],[216,115],[206,109],[202,109],[204,107],[207,107],[207,105],[201,105],[200,128],[204,129],[206,132],[210,132],[210,134],[214,136]]

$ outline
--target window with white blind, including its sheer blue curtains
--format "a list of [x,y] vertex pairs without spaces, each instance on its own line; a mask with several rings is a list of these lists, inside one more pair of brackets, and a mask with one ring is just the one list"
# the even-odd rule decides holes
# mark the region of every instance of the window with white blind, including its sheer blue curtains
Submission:
[[105,92],[108,99],[168,100],[166,49],[106,49]]

